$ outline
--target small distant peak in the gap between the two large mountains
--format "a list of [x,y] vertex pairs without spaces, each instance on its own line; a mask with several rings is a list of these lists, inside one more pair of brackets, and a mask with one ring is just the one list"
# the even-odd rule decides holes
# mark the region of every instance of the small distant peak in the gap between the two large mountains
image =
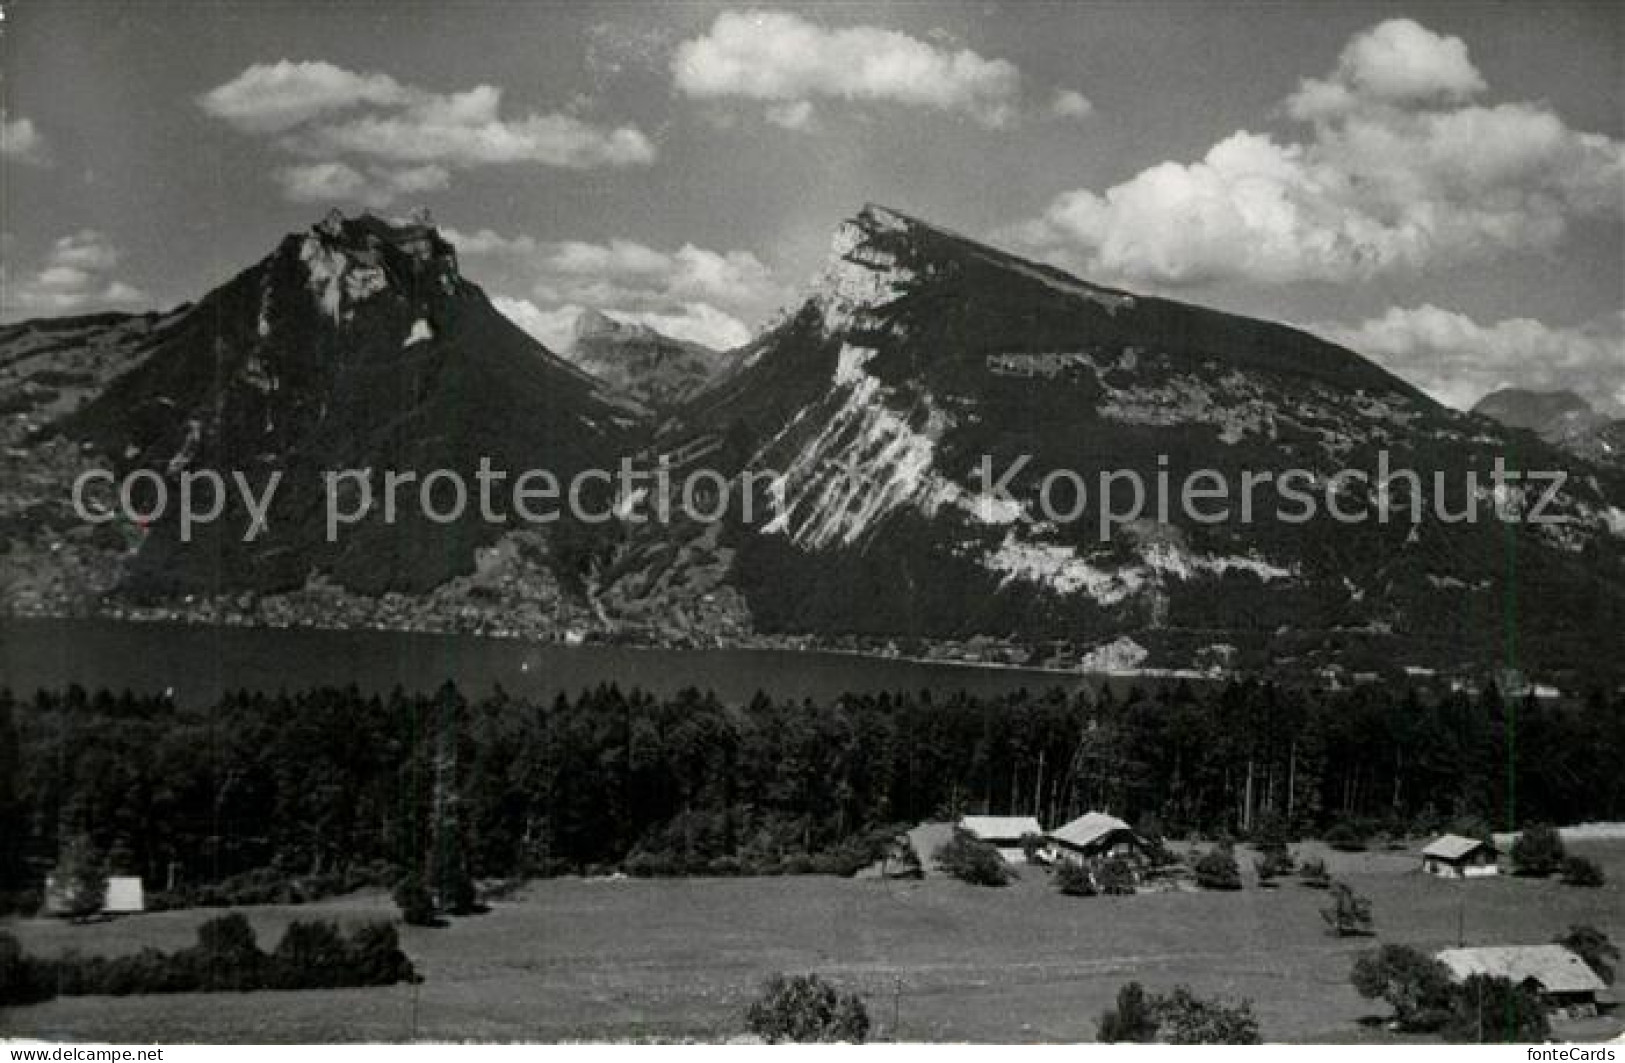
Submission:
[[648,325],[598,310],[582,310],[570,345],[559,354],[611,388],[656,410],[694,397],[733,364],[722,351],[673,340]]

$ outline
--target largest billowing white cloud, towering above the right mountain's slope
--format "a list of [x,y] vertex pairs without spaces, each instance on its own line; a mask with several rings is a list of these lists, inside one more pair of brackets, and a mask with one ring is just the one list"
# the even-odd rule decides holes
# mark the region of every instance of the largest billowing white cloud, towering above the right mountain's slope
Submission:
[[1471,102],[1484,91],[1459,39],[1381,23],[1285,101],[1300,140],[1232,133],[1194,163],[1061,193],[1011,239],[1164,286],[1357,281],[1552,249],[1575,219],[1620,216],[1625,145],[1544,104]]

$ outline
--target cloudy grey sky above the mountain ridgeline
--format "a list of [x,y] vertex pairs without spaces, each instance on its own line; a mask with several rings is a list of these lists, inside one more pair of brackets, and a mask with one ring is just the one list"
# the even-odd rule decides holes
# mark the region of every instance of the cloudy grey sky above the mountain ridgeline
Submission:
[[718,346],[879,202],[1625,414],[1625,5],[78,3],[0,23],[0,315],[167,307],[429,206],[556,345]]

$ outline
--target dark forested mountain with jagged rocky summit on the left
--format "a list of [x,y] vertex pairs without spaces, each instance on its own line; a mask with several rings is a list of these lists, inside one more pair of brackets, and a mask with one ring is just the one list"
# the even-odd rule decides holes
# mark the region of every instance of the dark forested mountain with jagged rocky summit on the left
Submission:
[[[460,518],[440,523],[424,515],[419,484],[405,488],[390,520],[382,473],[448,470],[474,491],[489,460],[567,479],[614,468],[644,431],[635,405],[606,395],[499,314],[426,216],[333,213],[197,304],[143,320],[76,327],[72,346],[109,348],[120,372],[72,408],[36,411],[41,440],[26,460],[52,449],[101,455],[119,475],[158,471],[171,499],[187,471],[236,470],[255,491],[273,475],[281,481],[268,530],[249,543],[236,491],[224,517],[193,528],[190,543],[174,504],[146,528],[99,525],[104,538],[125,538],[115,590],[127,600],[310,585],[424,595],[496,564],[492,549],[528,551],[543,569],[567,571],[580,528],[530,535],[505,512],[500,489],[497,509],[509,520],[483,520],[470,499]],[[369,470],[374,505],[330,541],[322,473],[336,470]],[[354,491],[359,483],[346,484],[346,505]],[[434,499],[442,512],[455,501],[444,483]],[[530,538],[515,538],[522,532]]]

